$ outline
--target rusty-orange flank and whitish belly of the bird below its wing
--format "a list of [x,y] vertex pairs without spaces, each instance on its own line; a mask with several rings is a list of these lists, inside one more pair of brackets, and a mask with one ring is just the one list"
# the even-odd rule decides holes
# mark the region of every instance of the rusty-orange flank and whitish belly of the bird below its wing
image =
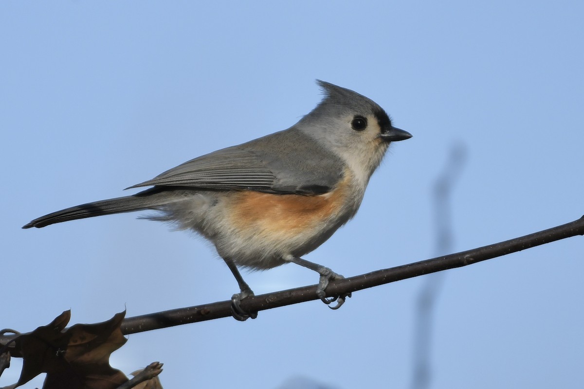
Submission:
[[218,253],[255,269],[279,266],[283,255],[310,253],[357,212],[363,192],[356,193],[350,179],[346,174],[334,190],[317,196],[231,192],[213,239]]

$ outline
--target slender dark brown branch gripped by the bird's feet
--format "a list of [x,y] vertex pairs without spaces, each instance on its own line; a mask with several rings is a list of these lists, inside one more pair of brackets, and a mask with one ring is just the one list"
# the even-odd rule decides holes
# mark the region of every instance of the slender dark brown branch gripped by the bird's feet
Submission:
[[[584,235],[584,216],[565,225],[489,246],[334,281],[326,288],[326,295],[338,296],[406,278],[463,267],[576,235]],[[241,307],[248,312],[263,311],[317,299],[317,286],[311,285],[248,297],[241,301]],[[124,335],[135,334],[228,316],[231,316],[231,300],[128,317],[121,324],[121,330]]]

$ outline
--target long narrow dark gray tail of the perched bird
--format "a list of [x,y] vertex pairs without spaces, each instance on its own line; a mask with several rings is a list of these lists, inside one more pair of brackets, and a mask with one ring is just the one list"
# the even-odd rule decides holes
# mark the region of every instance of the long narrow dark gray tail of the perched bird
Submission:
[[55,223],[67,222],[68,220],[142,211],[144,209],[153,209],[156,206],[167,204],[171,201],[172,195],[169,196],[169,192],[146,190],[133,196],[111,198],[61,209],[61,211],[49,213],[48,215],[34,219],[22,228],[41,228]]

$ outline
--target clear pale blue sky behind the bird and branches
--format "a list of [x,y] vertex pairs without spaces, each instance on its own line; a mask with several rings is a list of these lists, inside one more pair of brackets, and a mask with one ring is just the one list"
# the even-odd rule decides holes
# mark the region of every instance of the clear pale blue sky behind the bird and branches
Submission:
[[[308,260],[349,276],[433,257],[431,189],[454,143],[468,153],[454,251],[579,218],[583,16],[576,1],[1,2],[0,327],[228,299],[237,284],[210,244],[137,214],[20,226],[290,127],[318,103],[317,78],[414,137]],[[576,237],[446,272],[432,387],[581,383],[583,259]],[[244,276],[256,293],[317,281],[294,265]],[[169,388],[405,388],[422,283],[357,292],[338,311],[311,302],[131,335],[112,365],[160,360]],[[0,385],[18,374],[15,362]]]

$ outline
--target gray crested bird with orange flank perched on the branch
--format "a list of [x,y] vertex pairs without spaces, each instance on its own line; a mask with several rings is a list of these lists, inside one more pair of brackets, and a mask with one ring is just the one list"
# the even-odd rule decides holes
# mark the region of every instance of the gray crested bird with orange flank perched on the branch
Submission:
[[253,292],[238,266],[310,268],[321,275],[318,296],[327,304],[338,298],[339,307],[346,296],[326,299],[325,289],[342,276],[300,257],[355,215],[390,143],[412,135],[393,127],[367,97],[317,82],[324,99],[284,131],[180,164],[130,187],[154,186],[138,194],[49,213],[23,228],[151,209],[159,212],[147,219],[173,222],[215,244],[241,290],[232,297],[235,318],[256,315],[239,307]]

